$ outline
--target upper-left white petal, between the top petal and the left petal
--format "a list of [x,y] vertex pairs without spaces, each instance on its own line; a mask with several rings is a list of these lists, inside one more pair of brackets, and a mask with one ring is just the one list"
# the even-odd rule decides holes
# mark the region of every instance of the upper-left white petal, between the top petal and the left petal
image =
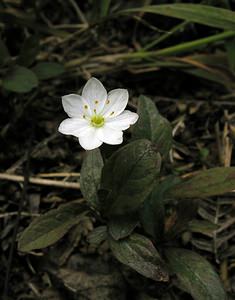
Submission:
[[83,115],[84,102],[81,96],[75,94],[63,96],[62,104],[69,117],[81,117]]

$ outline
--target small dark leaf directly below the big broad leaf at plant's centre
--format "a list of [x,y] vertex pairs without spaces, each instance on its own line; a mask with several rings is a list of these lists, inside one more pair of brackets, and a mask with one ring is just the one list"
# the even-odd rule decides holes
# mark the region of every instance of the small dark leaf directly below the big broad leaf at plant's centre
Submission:
[[120,240],[132,233],[138,224],[136,215],[114,217],[108,224],[109,233],[115,240]]

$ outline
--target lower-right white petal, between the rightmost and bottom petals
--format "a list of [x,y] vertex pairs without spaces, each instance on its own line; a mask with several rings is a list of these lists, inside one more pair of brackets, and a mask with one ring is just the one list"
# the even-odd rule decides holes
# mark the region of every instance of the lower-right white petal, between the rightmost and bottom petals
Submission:
[[118,145],[123,142],[123,132],[121,130],[113,130],[108,126],[103,126],[97,130],[98,138],[109,145]]

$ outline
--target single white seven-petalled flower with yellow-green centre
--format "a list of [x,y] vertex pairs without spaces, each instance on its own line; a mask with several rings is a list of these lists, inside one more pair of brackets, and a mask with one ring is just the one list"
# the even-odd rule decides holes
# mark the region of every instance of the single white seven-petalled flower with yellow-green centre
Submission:
[[102,83],[92,77],[81,96],[70,94],[62,97],[69,118],[60,124],[58,130],[78,137],[86,150],[98,148],[103,143],[121,144],[123,130],[138,120],[136,113],[125,110],[128,97],[125,89],[115,89],[107,94]]

